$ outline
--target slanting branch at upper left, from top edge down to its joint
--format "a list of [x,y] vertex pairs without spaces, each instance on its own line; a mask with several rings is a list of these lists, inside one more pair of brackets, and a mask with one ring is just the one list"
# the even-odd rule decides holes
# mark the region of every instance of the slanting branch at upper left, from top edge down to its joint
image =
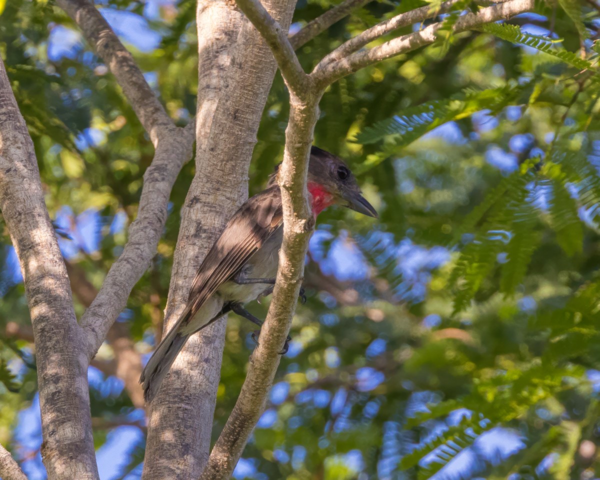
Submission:
[[56,0],[56,4],[77,23],[89,44],[110,68],[156,147],[160,134],[169,135],[168,130],[161,131],[161,127],[172,127],[173,121],[146,82],[131,53],[88,0]]

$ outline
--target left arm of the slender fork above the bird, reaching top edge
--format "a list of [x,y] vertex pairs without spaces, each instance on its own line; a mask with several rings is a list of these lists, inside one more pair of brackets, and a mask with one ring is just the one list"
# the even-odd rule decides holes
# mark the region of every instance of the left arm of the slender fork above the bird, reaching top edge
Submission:
[[281,28],[281,25],[269,14],[259,0],[236,1],[239,8],[250,22],[256,26],[271,49],[288,88],[299,95],[310,90],[310,77],[300,65],[294,48],[287,38],[286,31]]

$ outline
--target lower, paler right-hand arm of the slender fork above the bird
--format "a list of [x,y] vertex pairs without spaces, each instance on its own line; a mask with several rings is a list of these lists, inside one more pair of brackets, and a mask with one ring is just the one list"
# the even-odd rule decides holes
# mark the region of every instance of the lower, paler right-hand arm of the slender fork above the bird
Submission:
[[[510,17],[532,10],[534,0],[509,0],[491,7],[482,8],[478,13],[467,13],[461,16],[452,26],[454,33],[464,32],[469,29],[478,28],[485,23],[497,22],[497,20],[509,19]],[[370,50],[356,52],[346,58],[339,59],[328,65],[319,64],[311,73],[314,81],[321,88],[335,82],[350,73],[376,62],[410,52],[424,45],[436,41],[436,32],[442,28],[443,22],[434,23],[412,34],[394,38],[382,45]]]

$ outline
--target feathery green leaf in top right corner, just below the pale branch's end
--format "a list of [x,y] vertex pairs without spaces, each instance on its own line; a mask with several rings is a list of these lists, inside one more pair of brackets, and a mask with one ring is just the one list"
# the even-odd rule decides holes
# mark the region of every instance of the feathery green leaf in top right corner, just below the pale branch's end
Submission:
[[562,60],[566,64],[580,70],[591,70],[597,73],[596,67],[592,65],[592,62],[588,62],[583,58],[578,57],[573,52],[559,48],[556,46],[556,40],[550,40],[550,38],[537,37],[536,35],[526,34],[521,31],[517,25],[508,25],[507,23],[489,23],[488,25],[482,26],[482,30],[496,37],[502,38],[502,40],[510,41],[512,43],[520,43],[532,47],[533,49],[539,50],[540,52],[547,53],[548,55],[555,56]]

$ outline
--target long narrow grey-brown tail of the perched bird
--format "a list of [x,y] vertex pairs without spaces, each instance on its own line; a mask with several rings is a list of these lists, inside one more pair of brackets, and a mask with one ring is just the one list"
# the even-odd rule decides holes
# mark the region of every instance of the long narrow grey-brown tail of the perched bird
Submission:
[[158,344],[157,349],[152,353],[142,372],[140,382],[143,384],[146,403],[150,403],[155,397],[173,361],[175,361],[179,351],[191,336],[191,334],[179,332],[179,326],[188,319],[190,313],[190,309],[186,308],[177,323],[173,325],[166,337]]

